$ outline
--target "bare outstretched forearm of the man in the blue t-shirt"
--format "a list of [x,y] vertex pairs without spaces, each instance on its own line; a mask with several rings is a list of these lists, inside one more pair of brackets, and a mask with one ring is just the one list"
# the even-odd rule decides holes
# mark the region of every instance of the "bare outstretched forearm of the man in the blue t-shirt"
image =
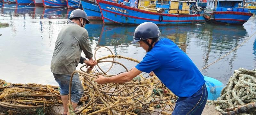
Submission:
[[134,77],[142,73],[142,71],[138,70],[137,68],[132,68],[129,72],[120,73],[113,77],[105,78],[102,75],[98,75],[98,79],[95,79],[98,84],[105,84],[105,83],[124,83],[127,81],[131,81]]

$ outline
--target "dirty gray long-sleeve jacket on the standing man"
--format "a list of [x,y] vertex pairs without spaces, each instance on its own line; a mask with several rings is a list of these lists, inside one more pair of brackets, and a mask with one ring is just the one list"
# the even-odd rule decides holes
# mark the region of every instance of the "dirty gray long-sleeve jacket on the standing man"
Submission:
[[52,73],[71,75],[80,61],[82,50],[86,58],[92,58],[87,30],[71,21],[58,34],[51,62]]

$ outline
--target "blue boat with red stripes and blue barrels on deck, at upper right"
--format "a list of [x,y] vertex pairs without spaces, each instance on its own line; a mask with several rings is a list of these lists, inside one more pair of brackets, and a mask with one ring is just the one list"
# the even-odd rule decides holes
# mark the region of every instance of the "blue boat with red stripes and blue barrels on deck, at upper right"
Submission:
[[253,15],[248,8],[239,8],[243,0],[207,0],[204,17],[216,24],[243,25]]

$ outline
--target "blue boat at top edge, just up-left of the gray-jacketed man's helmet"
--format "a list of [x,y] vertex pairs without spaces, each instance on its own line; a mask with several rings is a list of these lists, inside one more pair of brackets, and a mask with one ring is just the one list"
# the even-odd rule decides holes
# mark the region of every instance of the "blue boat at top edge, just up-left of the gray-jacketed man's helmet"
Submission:
[[44,7],[67,7],[66,0],[43,0]]

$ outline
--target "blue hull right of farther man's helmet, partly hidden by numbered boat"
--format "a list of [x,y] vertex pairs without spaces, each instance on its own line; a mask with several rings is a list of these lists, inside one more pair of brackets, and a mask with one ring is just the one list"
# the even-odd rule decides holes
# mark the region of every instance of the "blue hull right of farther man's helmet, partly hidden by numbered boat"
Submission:
[[86,12],[90,20],[102,20],[100,8],[96,2],[89,0],[81,0],[83,10]]

